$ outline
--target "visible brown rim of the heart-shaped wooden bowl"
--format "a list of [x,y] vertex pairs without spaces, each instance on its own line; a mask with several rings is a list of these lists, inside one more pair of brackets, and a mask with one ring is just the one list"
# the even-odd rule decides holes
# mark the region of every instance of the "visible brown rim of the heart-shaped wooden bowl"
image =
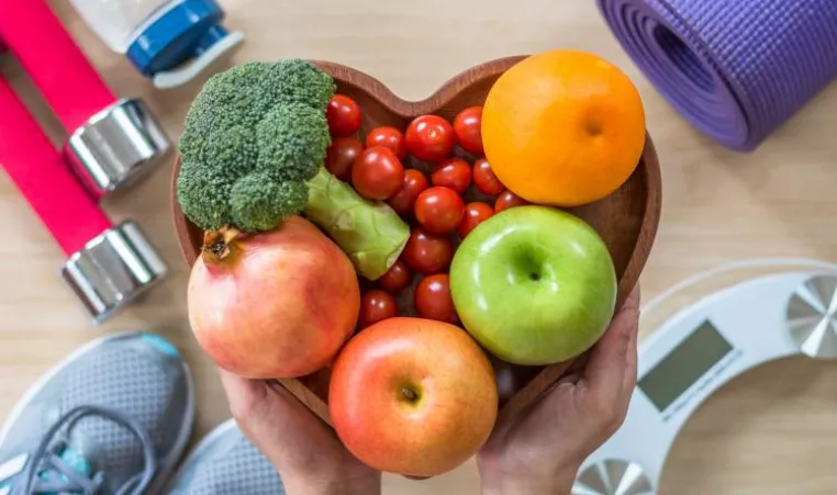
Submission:
[[[423,114],[437,113],[469,86],[484,79],[499,77],[524,58],[526,58],[526,55],[509,56],[473,66],[448,79],[439,87],[439,89],[427,98],[417,101],[401,99],[380,80],[361,70],[332,61],[311,61],[328,72],[339,83],[354,87],[362,92],[375,95],[381,105],[395,115],[402,119],[412,119]],[[176,182],[179,170],[180,156],[177,154],[175,167],[171,172],[169,202],[181,255],[187,265],[191,267],[197,259],[197,252],[191,248],[191,239],[188,229],[189,221],[186,218],[186,215],[183,215],[177,202]],[[637,284],[639,274],[650,256],[662,207],[662,182],[659,161],[651,137],[647,132],[645,148],[643,149],[640,161],[634,173],[637,172],[644,176],[643,179],[646,184],[647,194],[645,216],[643,217],[643,224],[636,237],[637,241],[634,245],[634,250],[630,254],[628,263],[625,266],[625,271],[618,281],[617,304],[620,306]],[[640,246],[644,249],[638,249]],[[512,395],[500,409],[498,420],[500,421],[507,417],[516,416],[529,404],[533,404],[534,400],[548,387],[547,384],[558,380],[570,364],[571,361],[545,367],[532,381],[524,385],[523,389]],[[331,425],[327,405],[316,397],[313,392],[299,381],[299,379],[280,379],[277,380],[277,382],[289,389],[298,398],[300,398],[300,401],[306,404],[309,408]]]

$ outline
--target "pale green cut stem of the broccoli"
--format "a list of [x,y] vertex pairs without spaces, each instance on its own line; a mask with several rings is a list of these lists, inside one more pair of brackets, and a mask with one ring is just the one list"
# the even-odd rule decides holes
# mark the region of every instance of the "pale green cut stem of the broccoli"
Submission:
[[377,280],[392,267],[410,226],[387,203],[361,198],[324,167],[309,182],[305,216],[348,255],[355,269]]

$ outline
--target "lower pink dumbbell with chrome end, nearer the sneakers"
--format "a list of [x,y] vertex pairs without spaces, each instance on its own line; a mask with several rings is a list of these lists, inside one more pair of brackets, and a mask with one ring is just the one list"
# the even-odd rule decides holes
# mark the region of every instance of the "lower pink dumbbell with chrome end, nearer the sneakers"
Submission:
[[0,166],[67,255],[64,279],[96,322],[166,274],[140,227],[111,224],[2,78]]

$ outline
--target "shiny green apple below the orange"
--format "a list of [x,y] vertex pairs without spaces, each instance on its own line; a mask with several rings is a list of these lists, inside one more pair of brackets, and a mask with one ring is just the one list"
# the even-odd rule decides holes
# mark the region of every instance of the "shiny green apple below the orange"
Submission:
[[498,358],[550,364],[604,334],[616,272],[599,234],[547,206],[518,206],[471,230],[450,266],[450,293],[468,333]]

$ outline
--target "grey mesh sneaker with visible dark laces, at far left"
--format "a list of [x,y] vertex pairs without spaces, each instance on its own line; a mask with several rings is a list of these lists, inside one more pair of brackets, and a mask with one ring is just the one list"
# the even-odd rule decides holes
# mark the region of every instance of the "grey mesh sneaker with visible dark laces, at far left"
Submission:
[[0,429],[0,495],[159,491],[194,418],[191,375],[159,336],[98,339],[44,375]]

